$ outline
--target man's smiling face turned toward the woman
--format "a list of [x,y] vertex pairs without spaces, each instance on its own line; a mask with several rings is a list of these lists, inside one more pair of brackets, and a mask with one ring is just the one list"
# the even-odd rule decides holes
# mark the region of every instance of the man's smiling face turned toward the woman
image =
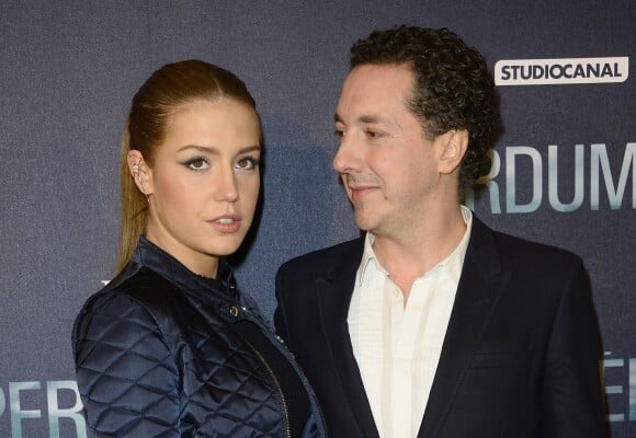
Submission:
[[441,137],[428,140],[407,107],[412,87],[408,66],[359,66],[336,110],[333,168],[357,226],[376,237],[408,237],[439,201]]

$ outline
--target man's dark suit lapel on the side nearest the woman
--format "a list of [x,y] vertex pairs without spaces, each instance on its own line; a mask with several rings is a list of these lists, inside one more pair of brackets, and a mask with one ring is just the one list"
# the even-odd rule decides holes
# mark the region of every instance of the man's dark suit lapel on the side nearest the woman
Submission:
[[333,261],[332,268],[317,279],[318,301],[323,332],[330,347],[331,360],[334,364],[340,383],[348,400],[353,417],[357,423],[360,435],[365,438],[379,437],[371,412],[357,362],[353,356],[347,318],[355,275],[364,240],[356,241],[351,251]]

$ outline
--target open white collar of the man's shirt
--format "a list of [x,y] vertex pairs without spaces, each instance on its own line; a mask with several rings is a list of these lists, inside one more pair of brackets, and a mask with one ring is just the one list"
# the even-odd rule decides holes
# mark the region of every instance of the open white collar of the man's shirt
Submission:
[[[462,267],[464,266],[464,257],[466,256],[468,241],[470,240],[470,230],[473,229],[473,212],[466,206],[461,205],[459,208],[462,211],[462,219],[464,219],[464,223],[466,224],[464,237],[457,246],[453,250],[453,252],[433,268],[436,269],[439,266],[447,265],[448,270],[457,278],[459,277]],[[388,272],[379,264],[377,257],[375,256],[375,252],[373,251],[373,242],[375,242],[375,235],[373,235],[372,232],[367,232],[364,238],[364,252],[362,253],[362,261],[360,263],[360,267],[357,268],[359,286],[362,286],[366,278],[370,275],[372,276],[373,272],[382,273],[385,276],[388,275]],[[371,268],[370,265],[373,268]]]

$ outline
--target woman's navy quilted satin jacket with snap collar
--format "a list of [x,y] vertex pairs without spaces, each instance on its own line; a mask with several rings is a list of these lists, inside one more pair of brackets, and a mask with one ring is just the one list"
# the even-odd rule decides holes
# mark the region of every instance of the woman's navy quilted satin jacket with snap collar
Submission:
[[313,390],[231,269],[192,274],[144,237],[128,266],[80,311],[78,387],[93,437],[288,437],[268,364],[231,325],[249,320],[294,365],[310,396],[302,437],[325,437]]

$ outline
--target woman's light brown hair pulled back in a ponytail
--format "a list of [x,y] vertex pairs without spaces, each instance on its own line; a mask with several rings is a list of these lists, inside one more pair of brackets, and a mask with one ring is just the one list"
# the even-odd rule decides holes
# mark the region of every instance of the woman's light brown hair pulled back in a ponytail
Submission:
[[166,137],[170,117],[184,104],[220,97],[237,100],[255,111],[254,100],[239,78],[228,70],[196,59],[161,67],[133,97],[122,135],[120,157],[122,232],[117,272],[129,262],[139,235],[146,231],[148,223],[148,201],[130,175],[128,152],[140,151],[146,164],[151,166],[155,150]]

